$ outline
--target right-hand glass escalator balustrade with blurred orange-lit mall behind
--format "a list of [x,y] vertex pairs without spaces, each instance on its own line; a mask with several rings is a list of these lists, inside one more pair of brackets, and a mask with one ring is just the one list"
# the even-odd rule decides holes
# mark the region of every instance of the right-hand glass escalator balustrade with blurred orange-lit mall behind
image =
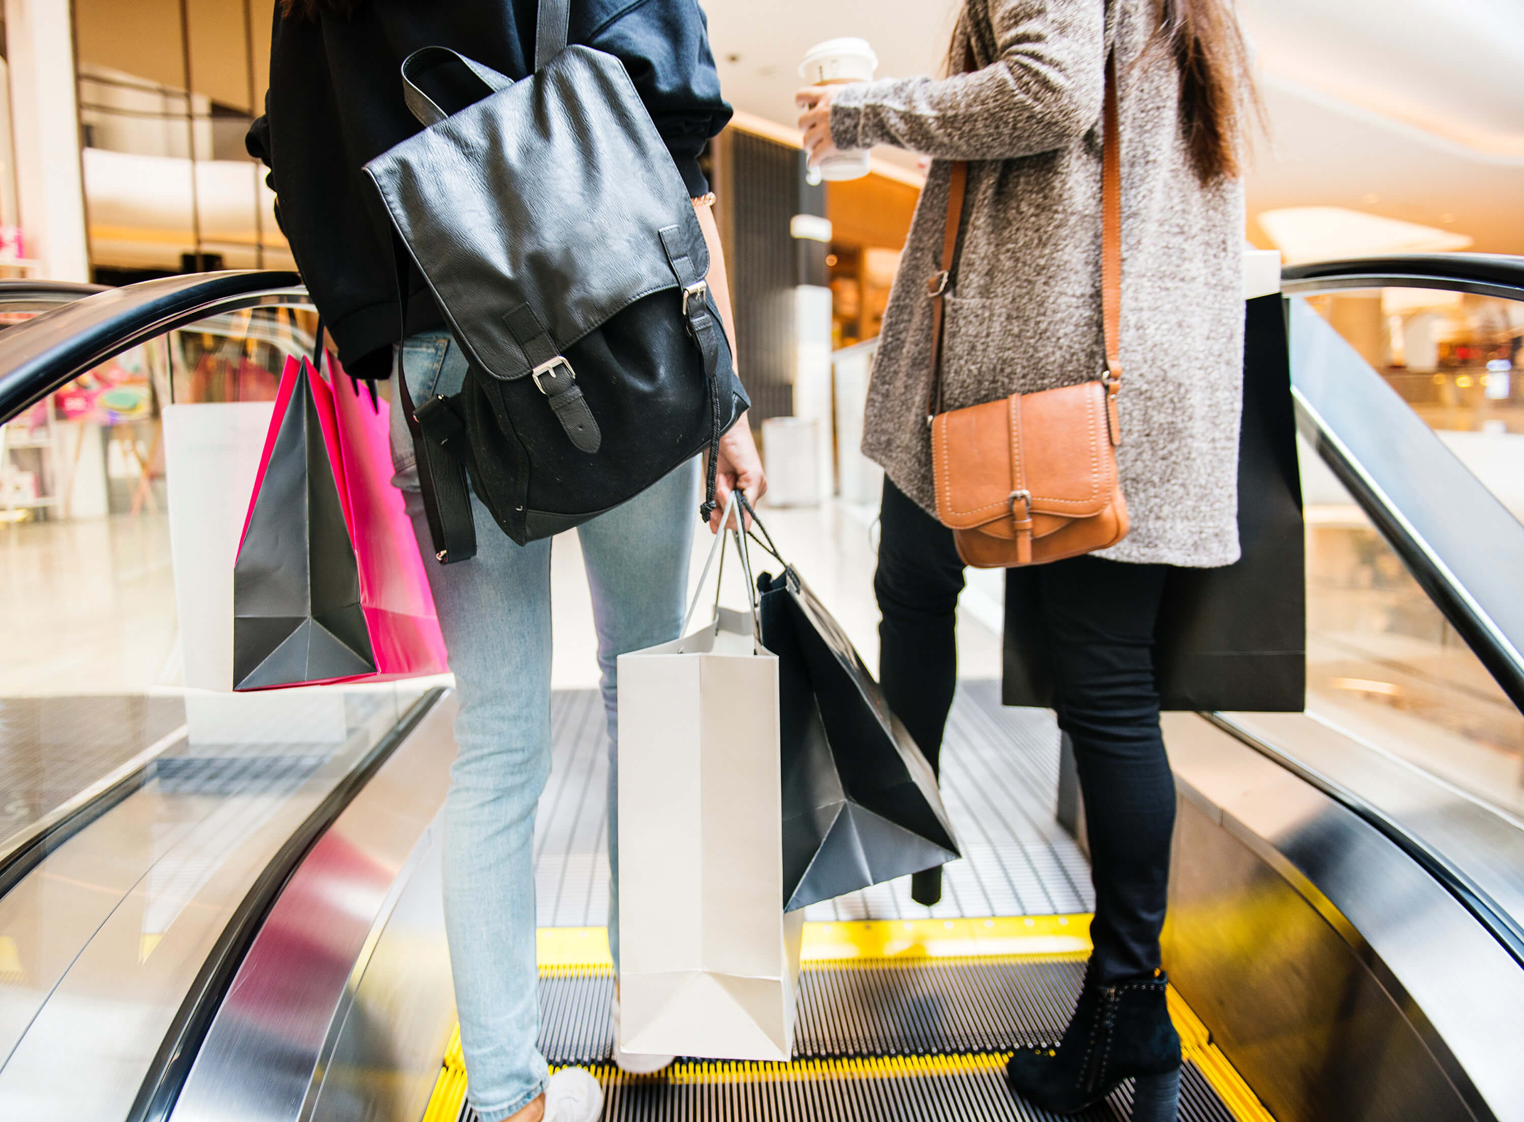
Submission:
[[[1524,515],[1524,302],[1439,288],[1306,302]],[[1524,817],[1524,715],[1317,453],[1300,453],[1308,710]]]

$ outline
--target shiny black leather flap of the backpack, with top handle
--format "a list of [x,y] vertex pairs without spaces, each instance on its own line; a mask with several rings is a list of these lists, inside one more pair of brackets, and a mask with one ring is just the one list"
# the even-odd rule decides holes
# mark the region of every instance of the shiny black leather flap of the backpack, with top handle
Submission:
[[514,82],[424,47],[402,73],[408,107],[433,123],[366,174],[480,369],[500,380],[533,370],[523,332],[507,326],[526,305],[564,351],[643,296],[678,288],[674,258],[709,271],[683,177],[613,55],[570,46]]

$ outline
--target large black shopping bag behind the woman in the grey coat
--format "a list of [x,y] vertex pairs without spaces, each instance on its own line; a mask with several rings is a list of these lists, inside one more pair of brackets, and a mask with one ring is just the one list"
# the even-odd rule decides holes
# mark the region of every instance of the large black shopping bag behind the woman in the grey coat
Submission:
[[[1244,328],[1242,556],[1221,569],[1169,570],[1154,665],[1163,709],[1300,713],[1308,584],[1282,297],[1250,300]],[[1001,700],[1007,706],[1053,704],[1039,582],[1036,567],[1006,570]]]

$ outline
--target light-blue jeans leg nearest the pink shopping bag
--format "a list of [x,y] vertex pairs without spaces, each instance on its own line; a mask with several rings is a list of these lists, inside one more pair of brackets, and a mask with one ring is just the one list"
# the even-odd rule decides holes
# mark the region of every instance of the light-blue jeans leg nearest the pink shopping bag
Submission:
[[498,1122],[544,1090],[535,960],[535,803],[550,773],[550,541],[517,546],[472,495],[477,555],[434,561],[404,491],[460,713],[445,799],[445,931],[471,1105]]

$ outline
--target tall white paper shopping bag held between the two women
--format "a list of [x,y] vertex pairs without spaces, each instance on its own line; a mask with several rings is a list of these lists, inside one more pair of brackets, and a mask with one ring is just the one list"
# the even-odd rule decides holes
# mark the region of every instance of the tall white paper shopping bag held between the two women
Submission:
[[803,912],[783,912],[777,657],[754,611],[620,656],[619,872],[620,1046],[791,1058]]

